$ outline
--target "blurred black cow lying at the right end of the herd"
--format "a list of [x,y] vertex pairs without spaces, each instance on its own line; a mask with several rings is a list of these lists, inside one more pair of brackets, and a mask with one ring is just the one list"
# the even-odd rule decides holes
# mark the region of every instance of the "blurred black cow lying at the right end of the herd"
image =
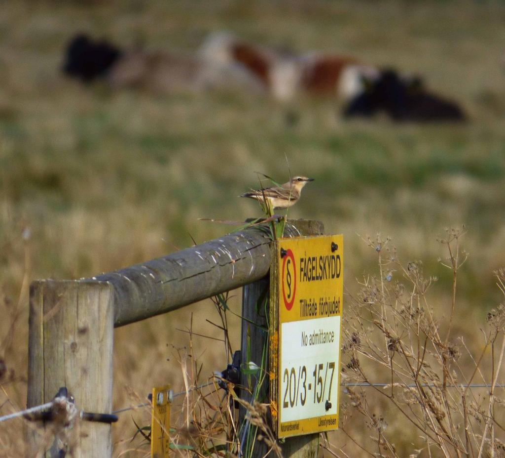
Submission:
[[462,121],[465,114],[450,100],[431,94],[419,77],[407,80],[394,70],[384,70],[375,80],[365,81],[365,91],[350,100],[345,117],[372,117],[382,112],[395,121]]

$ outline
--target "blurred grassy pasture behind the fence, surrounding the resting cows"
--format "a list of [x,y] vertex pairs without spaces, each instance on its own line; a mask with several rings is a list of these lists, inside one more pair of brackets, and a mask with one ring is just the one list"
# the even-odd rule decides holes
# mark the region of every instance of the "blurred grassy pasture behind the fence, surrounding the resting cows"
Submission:
[[[4,3],[0,358],[8,372],[0,413],[26,403],[31,280],[92,276],[230,232],[198,218],[260,216],[255,202],[237,196],[258,186],[256,171],[287,181],[285,156],[293,174],[315,178],[289,217],[321,220],[326,233],[344,234],[350,293],[357,277],[377,273],[360,235],[381,233],[405,263],[421,261],[439,277],[432,304],[440,318],[447,315],[451,272],[437,262],[445,253],[436,239],[464,224],[470,257],[460,271],[455,326],[456,334],[475,338],[500,300],[493,271],[505,258],[504,19],[505,5],[485,1]],[[126,48],[142,43],[191,53],[218,30],[419,73],[458,100],[469,119],[347,121],[328,97],[280,103],[238,92],[157,96],[84,86],[60,71],[65,46],[79,31]],[[233,295],[238,307],[240,292]],[[171,346],[187,345],[177,329],[188,328],[191,313],[195,332],[216,334],[205,321],[215,316],[211,301],[116,331],[115,407],[165,382],[183,388]],[[236,348],[238,319],[232,325]],[[194,343],[205,377],[225,368],[224,347],[197,337]],[[118,456],[132,446],[130,414],[113,429]],[[9,453],[23,442],[17,436],[3,439]],[[336,433],[335,440],[345,437]],[[415,440],[397,443],[407,453]]]

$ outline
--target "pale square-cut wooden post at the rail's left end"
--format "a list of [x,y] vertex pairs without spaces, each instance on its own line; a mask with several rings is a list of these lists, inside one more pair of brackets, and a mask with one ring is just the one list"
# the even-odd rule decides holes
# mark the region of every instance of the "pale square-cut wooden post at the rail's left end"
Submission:
[[[106,282],[32,283],[28,407],[51,401],[58,389],[66,386],[78,410],[111,412],[113,298]],[[75,446],[72,456],[111,456],[109,424],[77,421],[74,430],[69,433]],[[29,435],[32,450],[40,447],[37,433],[30,431]],[[54,447],[45,456],[55,456]]]

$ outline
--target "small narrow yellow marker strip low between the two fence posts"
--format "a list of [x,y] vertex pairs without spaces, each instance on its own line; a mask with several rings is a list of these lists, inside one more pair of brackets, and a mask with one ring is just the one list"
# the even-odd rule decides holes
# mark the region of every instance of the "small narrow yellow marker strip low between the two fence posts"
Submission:
[[170,386],[153,388],[151,414],[151,458],[167,458],[170,451],[170,404],[173,393]]

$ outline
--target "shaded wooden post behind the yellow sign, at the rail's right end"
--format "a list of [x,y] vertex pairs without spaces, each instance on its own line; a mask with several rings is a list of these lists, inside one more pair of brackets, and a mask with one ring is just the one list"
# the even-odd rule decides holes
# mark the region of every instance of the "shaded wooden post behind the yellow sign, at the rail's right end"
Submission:
[[[284,230],[285,237],[294,236],[307,236],[307,235],[322,235],[324,233],[323,223],[320,221],[311,220],[295,220],[288,221],[289,224],[286,225]],[[272,262],[275,259],[271,256]],[[247,364],[249,361],[254,362],[258,366],[261,366],[261,360],[263,355],[263,350],[267,346],[267,355],[269,355],[269,333],[262,329],[262,327],[267,326],[270,320],[275,319],[275,317],[270,315],[269,307],[269,297],[268,292],[269,285],[273,286],[270,281],[270,276],[267,275],[265,278],[245,285],[242,289],[242,339],[241,339],[241,358],[242,366]],[[260,310],[258,313],[257,306],[261,304],[265,298],[267,298],[267,305],[265,310]],[[253,321],[257,326],[252,325],[250,321]],[[247,358],[250,357],[250,360]],[[270,372],[270,360],[267,358],[267,371]],[[277,364],[277,361],[275,361]],[[249,387],[250,378],[241,375],[240,384]],[[263,402],[269,402],[270,393],[270,380],[267,374],[265,380],[263,381],[260,390],[260,399],[264,397]],[[247,402],[250,402],[251,396],[246,390],[241,390],[240,397]],[[245,410],[241,409],[240,414],[240,424],[242,424],[242,419],[245,415]],[[319,448],[319,433],[307,434],[305,436],[288,437],[284,442],[279,444],[282,449],[282,454],[284,458],[316,458]],[[268,447],[264,442],[256,441],[253,456],[256,458],[261,458],[268,451]]]

